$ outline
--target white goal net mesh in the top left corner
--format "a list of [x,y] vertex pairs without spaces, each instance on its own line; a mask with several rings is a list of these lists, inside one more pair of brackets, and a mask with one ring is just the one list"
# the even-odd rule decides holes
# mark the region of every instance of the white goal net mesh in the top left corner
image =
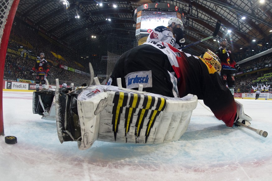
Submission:
[[[0,0],[0,42],[3,36],[3,30],[7,22],[7,15],[14,0]],[[1,48],[1,44],[0,44]]]

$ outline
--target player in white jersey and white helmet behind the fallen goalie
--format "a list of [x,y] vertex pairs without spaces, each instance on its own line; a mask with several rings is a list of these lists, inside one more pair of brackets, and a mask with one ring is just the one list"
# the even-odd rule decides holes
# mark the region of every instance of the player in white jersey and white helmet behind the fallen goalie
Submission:
[[185,39],[183,36],[183,24],[178,18],[170,18],[168,26],[158,26],[149,34],[146,42],[161,41],[171,44],[175,48],[183,46]]

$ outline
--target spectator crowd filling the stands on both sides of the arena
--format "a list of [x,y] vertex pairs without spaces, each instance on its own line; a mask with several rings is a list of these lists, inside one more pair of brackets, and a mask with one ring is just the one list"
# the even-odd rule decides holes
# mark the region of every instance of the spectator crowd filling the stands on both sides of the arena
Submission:
[[[32,55],[39,55],[41,52],[44,52],[46,60],[51,60],[57,63],[57,66],[54,66],[52,64],[50,66],[50,74],[52,74],[52,76],[48,77],[48,80],[51,84],[55,84],[56,78],[59,78],[60,84],[64,83],[65,81],[67,82],[68,85],[69,83],[74,83],[76,86],[79,86],[83,83],[88,84],[88,82],[90,81],[90,78],[88,76],[68,71],[59,67],[59,64],[62,64],[67,67],[72,67],[83,72],[89,72],[88,61],[83,61],[84,59],[82,59],[79,55],[77,55],[76,52],[72,51],[71,49],[61,46],[60,44],[50,39],[45,39],[44,37],[39,35],[37,30],[31,29],[28,26],[24,26],[22,24],[20,24],[19,26],[19,24],[20,23],[17,23],[16,21],[13,23],[8,47],[14,49],[26,49],[28,50],[28,53]],[[32,46],[27,46],[26,44],[17,42],[14,39],[24,39],[27,42],[27,44],[31,44]],[[268,44],[265,44],[265,46],[256,46],[254,52],[247,51],[242,56],[236,57],[236,62],[240,61],[240,59],[242,60],[250,56],[253,56],[254,54],[260,53],[261,51],[265,51],[271,48],[271,45],[272,42],[270,41]],[[64,59],[56,58],[51,52],[61,55]],[[75,62],[80,63],[82,66]],[[93,64],[95,74],[106,74],[107,62],[99,63],[98,57],[95,57],[94,60],[90,60],[90,62]],[[7,54],[4,67],[4,77],[15,79],[19,78],[24,80],[35,80],[34,75],[30,75],[30,70],[34,64],[35,60]],[[262,67],[267,64],[272,64],[271,53],[263,57],[260,57],[257,60],[254,59],[249,62],[240,64],[240,67],[243,72],[245,71],[251,72],[254,70],[254,68]],[[255,82],[255,80],[257,80],[258,77],[263,77],[263,74],[269,75],[268,73],[272,75],[271,67],[268,70],[261,71],[260,74],[256,72],[252,74],[243,75],[242,77],[236,77],[235,91],[251,92],[252,85],[272,84],[271,78],[272,76],[266,78],[265,80],[260,79],[260,81]]]

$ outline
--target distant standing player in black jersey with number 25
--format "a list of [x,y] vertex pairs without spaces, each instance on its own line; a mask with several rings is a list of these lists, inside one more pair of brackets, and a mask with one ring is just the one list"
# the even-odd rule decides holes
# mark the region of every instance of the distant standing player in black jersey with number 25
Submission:
[[30,70],[30,75],[36,71],[36,91],[39,91],[40,82],[42,89],[45,89],[45,78],[49,74],[49,63],[44,59],[45,54],[40,53],[40,58],[36,60],[34,67]]

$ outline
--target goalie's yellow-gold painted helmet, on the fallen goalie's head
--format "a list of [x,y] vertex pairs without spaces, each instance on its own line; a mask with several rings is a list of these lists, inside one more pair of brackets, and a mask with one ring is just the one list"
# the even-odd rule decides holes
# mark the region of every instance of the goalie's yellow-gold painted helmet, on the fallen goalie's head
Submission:
[[215,53],[213,53],[211,50],[207,49],[206,52],[203,52],[200,55],[200,58],[202,58],[206,63],[209,63],[212,65],[213,68],[215,68],[216,72],[220,73],[221,71],[221,60],[217,57]]

